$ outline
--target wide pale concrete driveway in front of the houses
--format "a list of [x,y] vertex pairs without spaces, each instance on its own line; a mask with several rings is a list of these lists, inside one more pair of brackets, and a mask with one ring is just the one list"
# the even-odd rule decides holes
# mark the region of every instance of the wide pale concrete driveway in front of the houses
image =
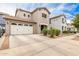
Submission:
[[1,50],[0,55],[79,55],[79,41],[71,40],[74,37],[48,38],[37,34],[10,36],[10,49]]

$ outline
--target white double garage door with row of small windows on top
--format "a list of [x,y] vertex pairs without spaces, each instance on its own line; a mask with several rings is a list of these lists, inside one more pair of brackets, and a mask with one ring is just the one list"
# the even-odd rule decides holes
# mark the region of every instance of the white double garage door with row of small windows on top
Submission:
[[11,34],[32,34],[33,26],[30,24],[11,24]]

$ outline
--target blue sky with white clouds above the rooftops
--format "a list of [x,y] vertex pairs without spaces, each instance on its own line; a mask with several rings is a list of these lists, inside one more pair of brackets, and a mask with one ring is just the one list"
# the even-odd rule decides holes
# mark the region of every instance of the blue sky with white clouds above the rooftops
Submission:
[[32,11],[37,7],[47,7],[51,12],[50,17],[65,14],[68,22],[79,13],[78,3],[0,3],[0,12],[15,15],[17,8]]

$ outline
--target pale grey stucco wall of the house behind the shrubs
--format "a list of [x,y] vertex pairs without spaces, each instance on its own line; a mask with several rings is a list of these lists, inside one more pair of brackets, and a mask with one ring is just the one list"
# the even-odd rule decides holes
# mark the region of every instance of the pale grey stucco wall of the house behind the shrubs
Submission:
[[[67,22],[62,23],[62,18],[64,18],[64,20],[66,20],[66,18],[64,16],[51,19],[50,27],[57,28],[57,29],[61,30],[61,32],[64,30],[67,30]],[[66,29],[63,28],[63,30],[62,30],[62,26],[66,27]]]

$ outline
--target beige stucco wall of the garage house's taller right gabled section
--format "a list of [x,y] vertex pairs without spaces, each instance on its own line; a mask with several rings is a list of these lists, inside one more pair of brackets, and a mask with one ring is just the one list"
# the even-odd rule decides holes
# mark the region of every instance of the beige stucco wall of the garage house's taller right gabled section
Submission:
[[[42,17],[42,13],[46,14],[47,18]],[[37,10],[32,14],[32,20],[37,23],[37,33],[41,33],[41,25],[49,26],[49,13],[44,9]]]

